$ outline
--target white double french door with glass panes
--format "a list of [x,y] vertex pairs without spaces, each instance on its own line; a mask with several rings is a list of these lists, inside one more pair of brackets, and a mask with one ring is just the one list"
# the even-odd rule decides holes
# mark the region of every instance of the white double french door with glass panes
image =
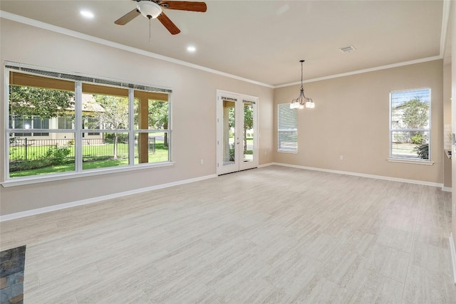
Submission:
[[258,98],[217,90],[217,174],[258,167]]

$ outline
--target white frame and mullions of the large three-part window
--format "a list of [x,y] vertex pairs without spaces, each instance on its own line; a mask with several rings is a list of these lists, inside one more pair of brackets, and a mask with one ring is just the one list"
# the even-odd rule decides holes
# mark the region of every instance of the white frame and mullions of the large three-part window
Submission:
[[[173,165],[172,162],[172,90],[170,88],[164,87],[157,87],[157,86],[150,86],[150,85],[143,85],[138,83],[128,83],[125,80],[113,80],[109,78],[100,78],[100,77],[93,77],[90,75],[83,75],[83,74],[76,74],[76,73],[68,73],[65,71],[58,71],[58,70],[48,70],[43,68],[36,68],[31,65],[24,65],[21,63],[11,63],[5,61],[5,83],[4,83],[4,127],[6,132],[4,133],[4,147],[5,147],[5,157],[4,157],[4,180],[0,182],[3,187],[11,187],[11,186],[19,186],[23,184],[35,184],[40,182],[49,182],[49,181],[56,181],[62,179],[73,179],[77,177],[84,177],[84,176],[93,176],[99,174],[108,174],[113,172],[125,172],[125,171],[133,171],[137,169],[146,169],[152,167],[166,167]],[[46,175],[31,175],[28,177],[9,177],[9,135],[14,133],[14,126],[13,128],[9,127],[9,72],[17,72],[17,73],[24,73],[28,75],[38,75],[41,77],[46,78],[57,78],[62,80],[71,80],[75,83],[75,128],[68,130],[68,129],[46,129],[46,130],[27,130],[27,132],[75,132],[75,139],[76,144],[79,142],[79,147],[75,150],[75,164],[76,169],[75,171],[71,172],[64,172],[64,173],[55,173],[55,174],[46,174]],[[129,145],[130,145],[130,162],[128,165],[123,167],[105,167],[100,169],[90,169],[90,170],[83,170],[82,169],[82,153],[81,150],[81,139],[78,140],[78,136],[82,135],[82,132],[87,132],[86,129],[82,129],[82,108],[80,103],[82,103],[81,98],[78,96],[82,95],[82,83],[89,82],[95,83],[99,85],[105,86],[114,86],[118,88],[128,88],[129,91],[129,103],[130,103],[130,123],[128,129],[122,130],[122,132],[128,132],[129,134]],[[152,162],[152,163],[143,163],[143,164],[135,164],[132,162],[134,155],[131,153],[134,151],[134,137],[132,136],[134,133],[138,132],[156,132],[157,130],[137,130],[135,129],[135,124],[133,123],[133,103],[134,103],[134,91],[135,90],[142,90],[142,91],[150,91],[150,92],[160,92],[160,93],[167,93],[168,94],[168,127],[167,130],[160,130],[160,132],[167,132],[168,134],[168,160],[165,162]],[[81,123],[78,123],[81,122]],[[18,132],[24,132],[25,130],[18,130]],[[120,132],[116,130],[90,130],[92,132]],[[81,135],[80,135],[81,134]]]

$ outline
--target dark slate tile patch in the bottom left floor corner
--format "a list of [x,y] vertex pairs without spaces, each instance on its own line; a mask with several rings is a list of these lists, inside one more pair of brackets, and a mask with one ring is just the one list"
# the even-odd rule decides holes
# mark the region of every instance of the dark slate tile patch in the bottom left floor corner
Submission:
[[0,251],[0,304],[23,303],[25,263],[25,245]]

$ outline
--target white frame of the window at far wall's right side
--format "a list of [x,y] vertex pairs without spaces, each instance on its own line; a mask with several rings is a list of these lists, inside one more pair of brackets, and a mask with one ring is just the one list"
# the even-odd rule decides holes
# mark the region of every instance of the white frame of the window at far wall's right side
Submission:
[[[429,91],[429,123],[427,128],[421,128],[421,129],[406,129],[406,128],[393,128],[393,95],[398,94],[398,93],[413,93],[414,91],[420,91],[420,90],[428,90]],[[389,158],[388,162],[404,162],[404,163],[410,163],[410,164],[427,164],[427,165],[432,165],[434,162],[432,162],[431,157],[432,157],[432,151],[431,151],[431,143],[432,143],[432,138],[431,138],[431,133],[432,133],[432,90],[431,88],[413,88],[413,89],[405,89],[405,90],[393,90],[389,94]],[[429,142],[429,152],[428,152],[428,159],[420,159],[418,157],[398,157],[397,155],[393,154],[393,132],[427,132],[428,133],[428,142]]]

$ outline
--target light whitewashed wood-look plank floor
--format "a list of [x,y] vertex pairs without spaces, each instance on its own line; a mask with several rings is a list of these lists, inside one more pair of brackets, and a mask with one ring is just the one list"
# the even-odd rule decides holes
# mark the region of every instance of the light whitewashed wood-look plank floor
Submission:
[[24,303],[456,303],[450,219],[436,187],[271,166],[0,229]]

